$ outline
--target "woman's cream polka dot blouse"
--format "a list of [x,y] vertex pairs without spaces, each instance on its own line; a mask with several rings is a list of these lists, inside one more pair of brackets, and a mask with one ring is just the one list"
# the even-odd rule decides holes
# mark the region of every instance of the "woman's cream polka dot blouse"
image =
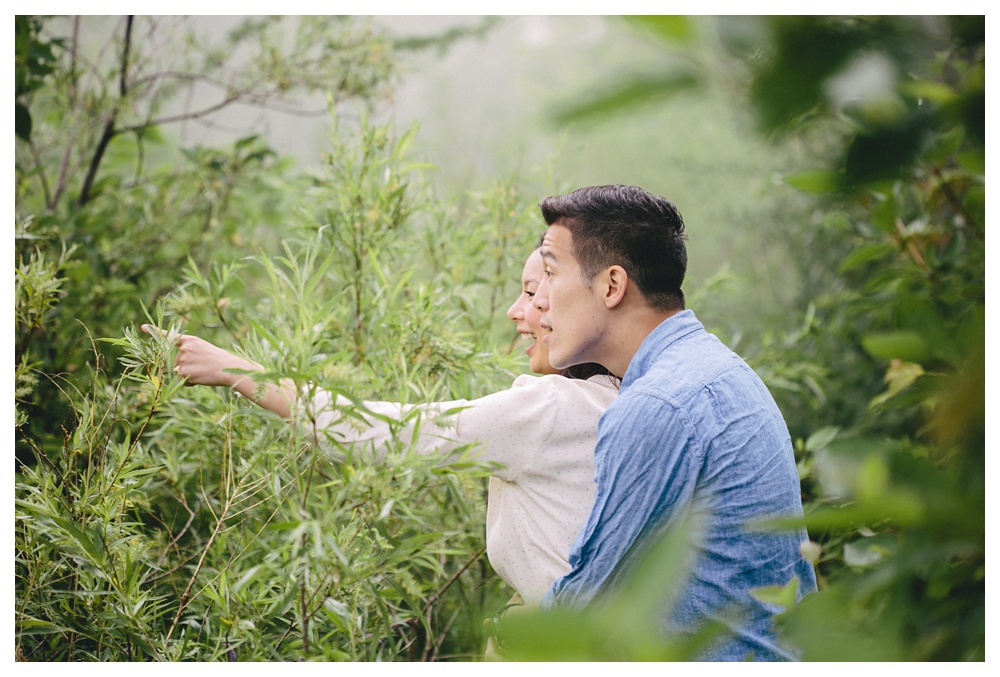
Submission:
[[378,458],[390,439],[390,426],[379,416],[406,420],[397,439],[410,439],[418,425],[417,446],[423,453],[449,454],[478,443],[476,458],[497,464],[486,512],[487,555],[496,572],[531,604],[569,571],[570,546],[594,501],[597,421],[617,395],[607,376],[525,375],[509,390],[475,400],[365,402],[378,416],[358,408],[345,416],[351,402],[320,390],[304,413],[321,444],[336,440],[354,443],[357,450],[365,443]]

